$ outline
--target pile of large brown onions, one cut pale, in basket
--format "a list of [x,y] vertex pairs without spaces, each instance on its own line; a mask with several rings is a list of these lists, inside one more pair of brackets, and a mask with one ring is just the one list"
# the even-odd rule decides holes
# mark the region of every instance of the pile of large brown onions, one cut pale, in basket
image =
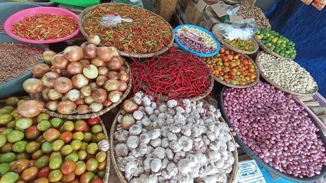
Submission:
[[25,91],[41,94],[45,108],[61,114],[98,112],[120,102],[130,78],[124,59],[114,47],[97,47],[97,35],[88,41],[69,46],[62,54],[45,51],[46,64],[32,69],[35,78],[23,83]]

